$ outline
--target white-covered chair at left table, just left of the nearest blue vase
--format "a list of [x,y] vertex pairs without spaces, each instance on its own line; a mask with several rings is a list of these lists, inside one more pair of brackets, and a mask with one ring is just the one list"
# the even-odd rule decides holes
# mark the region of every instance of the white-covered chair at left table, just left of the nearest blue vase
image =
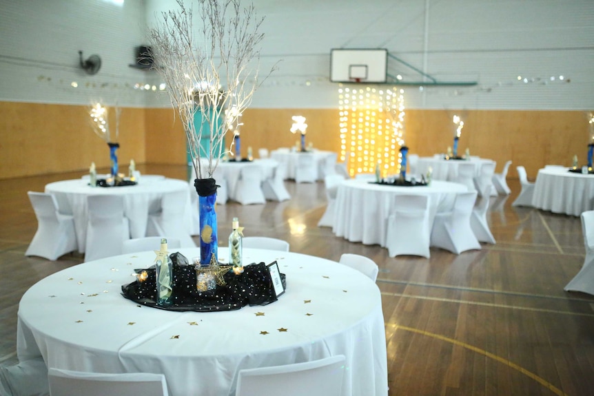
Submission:
[[161,211],[149,216],[146,236],[177,238],[181,247],[196,247],[190,236],[190,220],[187,218],[187,190],[171,191],[161,197]]

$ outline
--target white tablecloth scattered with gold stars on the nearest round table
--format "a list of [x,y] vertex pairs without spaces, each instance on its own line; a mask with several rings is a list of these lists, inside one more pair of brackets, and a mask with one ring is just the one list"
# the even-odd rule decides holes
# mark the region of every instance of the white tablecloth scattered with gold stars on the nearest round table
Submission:
[[[200,249],[181,249],[185,257]],[[227,256],[220,248],[219,256]],[[387,351],[378,286],[343,264],[245,249],[244,262],[278,261],[287,290],[266,306],[173,312],[121,296],[154,252],[79,264],[34,284],[19,304],[17,353],[48,367],[164,373],[172,396],[234,395],[242,368],[347,357],[342,395],[387,396]]]

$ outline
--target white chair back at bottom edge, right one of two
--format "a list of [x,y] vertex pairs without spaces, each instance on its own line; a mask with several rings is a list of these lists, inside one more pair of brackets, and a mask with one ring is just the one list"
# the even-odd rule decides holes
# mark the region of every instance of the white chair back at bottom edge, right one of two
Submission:
[[312,362],[245,368],[237,377],[235,396],[339,396],[346,357],[336,355]]

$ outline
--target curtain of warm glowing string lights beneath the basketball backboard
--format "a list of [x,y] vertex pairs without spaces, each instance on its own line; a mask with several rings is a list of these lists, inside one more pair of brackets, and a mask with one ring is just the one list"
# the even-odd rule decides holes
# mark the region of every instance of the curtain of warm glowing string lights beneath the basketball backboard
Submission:
[[376,87],[338,88],[340,159],[348,158],[349,174],[382,177],[400,171],[404,145],[404,91]]

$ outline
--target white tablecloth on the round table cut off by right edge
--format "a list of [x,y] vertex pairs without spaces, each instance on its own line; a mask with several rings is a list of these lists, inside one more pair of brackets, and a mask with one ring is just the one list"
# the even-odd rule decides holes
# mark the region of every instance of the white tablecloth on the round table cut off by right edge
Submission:
[[575,174],[566,167],[540,169],[532,205],[538,209],[580,216],[594,209],[594,175]]

